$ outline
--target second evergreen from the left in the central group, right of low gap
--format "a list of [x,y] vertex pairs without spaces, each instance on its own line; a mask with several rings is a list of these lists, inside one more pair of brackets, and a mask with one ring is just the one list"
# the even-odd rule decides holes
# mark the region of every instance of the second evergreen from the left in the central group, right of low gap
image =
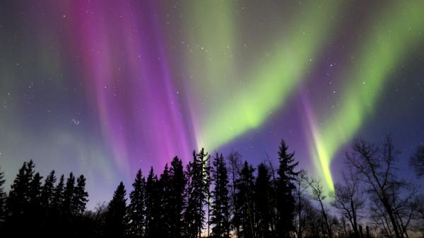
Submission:
[[146,206],[144,201],[146,179],[144,179],[141,169],[137,172],[132,186],[133,191],[129,194],[131,202],[128,207],[128,234],[131,237],[141,237],[144,235],[146,220]]

